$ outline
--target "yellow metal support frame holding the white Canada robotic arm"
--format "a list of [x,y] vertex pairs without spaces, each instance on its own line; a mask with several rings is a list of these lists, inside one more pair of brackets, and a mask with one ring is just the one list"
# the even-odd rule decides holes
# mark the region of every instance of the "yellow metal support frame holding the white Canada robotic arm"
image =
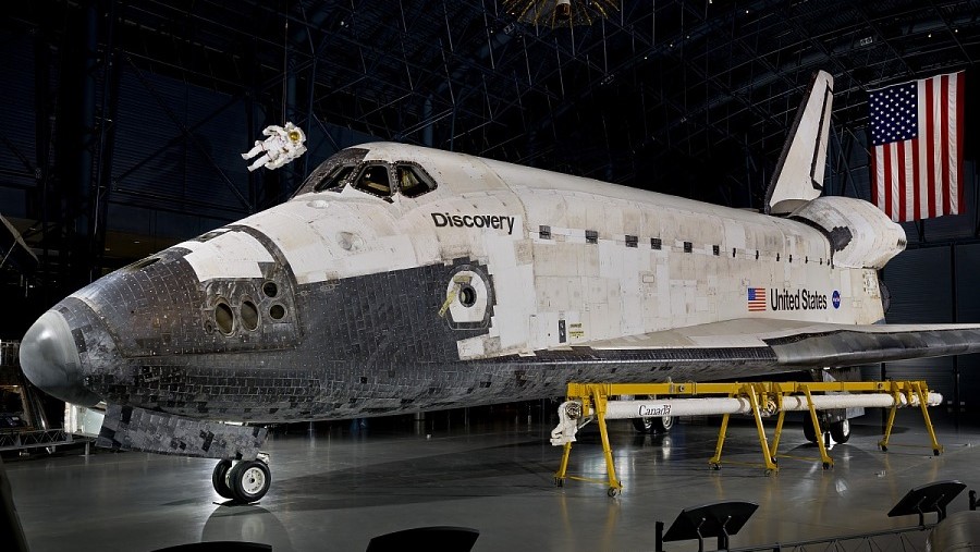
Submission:
[[[785,421],[786,412],[783,410],[784,396],[805,396],[809,406],[809,418],[812,424],[814,434],[817,436],[817,445],[820,449],[819,462],[823,464],[824,469],[830,469],[834,465],[833,458],[826,452],[823,443],[823,432],[820,429],[820,421],[817,416],[817,409],[813,406],[814,393],[887,393],[892,395],[893,406],[890,408],[889,420],[885,426],[884,437],[879,441],[879,447],[887,451],[889,439],[895,424],[895,413],[899,406],[904,404],[912,405],[918,400],[919,408],[922,412],[922,418],[926,422],[926,429],[929,431],[929,438],[932,441],[931,447],[934,455],[940,455],[943,451],[935,438],[935,431],[932,427],[932,420],[929,418],[928,395],[929,388],[924,381],[834,381],[834,382],[750,382],[750,383],[568,383],[567,400],[581,404],[581,416],[595,417],[599,426],[599,434],[602,439],[602,452],[605,456],[607,479],[593,479],[588,477],[579,477],[568,475],[568,461],[572,454],[572,443],[564,444],[562,453],[562,462],[559,470],[554,474],[554,483],[558,487],[564,486],[565,479],[575,479],[579,481],[590,481],[603,483],[609,487],[609,495],[615,496],[623,490],[623,483],[616,478],[615,466],[612,457],[612,447],[609,443],[609,430],[605,424],[607,404],[610,397],[633,395],[633,396],[657,396],[671,398],[702,397],[710,395],[726,395],[733,398],[744,398],[751,405],[751,415],[756,420],[756,429],[759,437],[759,444],[762,451],[762,464],[749,464],[752,466],[763,467],[767,475],[779,471],[776,456],[780,445],[780,437],[783,431],[783,422]],[[905,400],[903,403],[903,398]],[[772,445],[765,434],[765,428],[762,425],[762,418],[777,412],[776,427],[773,434]],[[725,436],[728,429],[728,420],[731,414],[724,414],[722,417],[721,428],[718,433],[718,444],[715,445],[714,456],[708,461],[709,466],[713,469],[720,469],[722,465],[722,447],[725,442]],[[794,457],[788,455],[779,455],[781,457]],[[813,459],[813,458],[799,458]],[[730,462],[730,464],[737,464]]]

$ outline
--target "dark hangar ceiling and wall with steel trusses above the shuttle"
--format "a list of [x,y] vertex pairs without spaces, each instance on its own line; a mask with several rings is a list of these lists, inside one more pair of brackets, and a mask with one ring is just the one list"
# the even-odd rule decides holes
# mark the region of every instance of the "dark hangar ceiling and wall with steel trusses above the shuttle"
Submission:
[[[0,214],[71,291],[371,137],[758,208],[814,71],[835,77],[833,177],[859,191],[865,90],[980,59],[980,1],[603,0],[573,26],[509,13],[528,1],[8,5]],[[245,171],[283,120],[309,154]]]

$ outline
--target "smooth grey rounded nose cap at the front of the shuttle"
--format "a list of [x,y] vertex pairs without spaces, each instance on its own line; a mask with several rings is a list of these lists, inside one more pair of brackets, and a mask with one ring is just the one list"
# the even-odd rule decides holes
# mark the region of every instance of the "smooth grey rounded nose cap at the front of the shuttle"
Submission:
[[83,406],[99,402],[83,385],[82,359],[61,312],[48,310],[34,322],[21,341],[20,356],[24,375],[49,395]]

